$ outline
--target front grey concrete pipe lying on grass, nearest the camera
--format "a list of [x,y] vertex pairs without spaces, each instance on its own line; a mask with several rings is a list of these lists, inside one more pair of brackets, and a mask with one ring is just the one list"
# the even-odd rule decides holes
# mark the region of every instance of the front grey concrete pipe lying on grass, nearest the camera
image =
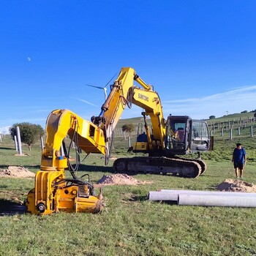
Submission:
[[[236,194],[236,192],[234,193]],[[256,207],[256,197],[242,195],[179,195],[179,206]]]

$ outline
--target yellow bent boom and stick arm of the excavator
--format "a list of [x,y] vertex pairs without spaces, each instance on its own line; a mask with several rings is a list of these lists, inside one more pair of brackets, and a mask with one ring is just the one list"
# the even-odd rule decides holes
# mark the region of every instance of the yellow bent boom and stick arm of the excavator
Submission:
[[[136,81],[141,87],[134,86]],[[164,148],[165,118],[162,113],[162,104],[159,95],[152,87],[145,83],[131,67],[123,67],[118,78],[113,83],[110,94],[102,105],[99,116],[93,116],[91,121],[101,127],[105,134],[105,140],[111,140],[113,130],[124,108],[131,108],[132,104],[143,108],[143,116],[150,116],[153,136],[146,125],[146,135],[149,148]],[[153,139],[152,139],[153,138]]]

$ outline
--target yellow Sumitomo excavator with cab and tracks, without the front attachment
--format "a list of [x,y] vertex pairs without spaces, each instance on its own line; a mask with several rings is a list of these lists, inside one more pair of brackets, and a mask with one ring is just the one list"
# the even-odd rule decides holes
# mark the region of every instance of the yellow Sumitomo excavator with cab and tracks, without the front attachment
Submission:
[[[134,81],[142,88],[134,86]],[[121,113],[126,106],[131,108],[132,104],[144,110],[142,115],[145,133],[138,134],[137,141],[130,150],[148,156],[119,158],[113,164],[116,172],[172,173],[195,178],[206,170],[206,163],[202,159],[177,157],[192,152],[200,154],[202,151],[208,151],[210,139],[206,121],[172,115],[165,120],[159,95],[131,67],[121,69],[111,86],[108,98],[102,105],[101,113],[91,118],[92,123],[104,131],[106,143],[113,141],[113,130]],[[147,124],[147,116],[151,118],[151,128]],[[106,157],[109,156],[110,151]]]

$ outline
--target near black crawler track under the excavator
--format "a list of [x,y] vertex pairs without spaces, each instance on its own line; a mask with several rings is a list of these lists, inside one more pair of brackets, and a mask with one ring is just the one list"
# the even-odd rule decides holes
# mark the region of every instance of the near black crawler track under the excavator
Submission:
[[200,176],[202,167],[198,159],[168,158],[168,157],[132,157],[119,158],[113,163],[117,173],[138,173],[178,175],[185,178]]

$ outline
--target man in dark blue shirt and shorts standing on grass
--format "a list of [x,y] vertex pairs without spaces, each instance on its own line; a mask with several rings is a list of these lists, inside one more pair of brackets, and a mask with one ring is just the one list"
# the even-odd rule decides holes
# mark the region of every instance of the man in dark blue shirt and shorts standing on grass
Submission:
[[240,143],[236,144],[236,148],[233,151],[232,162],[234,162],[236,178],[239,178],[238,170],[240,170],[240,178],[243,178],[244,165],[246,164],[246,151],[241,147]]

